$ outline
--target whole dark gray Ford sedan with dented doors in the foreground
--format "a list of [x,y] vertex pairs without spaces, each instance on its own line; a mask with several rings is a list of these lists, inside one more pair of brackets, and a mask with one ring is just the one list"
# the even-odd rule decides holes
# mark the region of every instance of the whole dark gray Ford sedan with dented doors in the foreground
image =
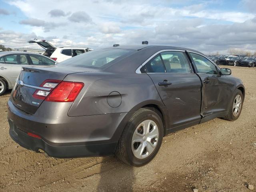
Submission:
[[126,164],[143,166],[163,136],[239,117],[245,88],[230,74],[196,50],[152,45],[24,67],[8,101],[9,133],[48,156],[115,153]]

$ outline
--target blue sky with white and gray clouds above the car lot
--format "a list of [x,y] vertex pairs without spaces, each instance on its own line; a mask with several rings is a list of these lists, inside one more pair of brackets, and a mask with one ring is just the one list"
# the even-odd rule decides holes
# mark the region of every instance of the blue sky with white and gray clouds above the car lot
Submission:
[[256,50],[256,0],[0,0],[0,44],[101,48],[182,46],[206,54]]

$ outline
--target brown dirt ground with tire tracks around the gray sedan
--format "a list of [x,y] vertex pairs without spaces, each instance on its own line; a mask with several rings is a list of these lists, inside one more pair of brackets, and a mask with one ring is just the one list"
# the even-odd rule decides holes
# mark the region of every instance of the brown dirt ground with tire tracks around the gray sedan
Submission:
[[166,136],[156,158],[134,168],[115,156],[56,159],[26,150],[9,136],[0,96],[0,191],[256,191],[256,68],[230,67],[246,87],[240,118],[214,119]]

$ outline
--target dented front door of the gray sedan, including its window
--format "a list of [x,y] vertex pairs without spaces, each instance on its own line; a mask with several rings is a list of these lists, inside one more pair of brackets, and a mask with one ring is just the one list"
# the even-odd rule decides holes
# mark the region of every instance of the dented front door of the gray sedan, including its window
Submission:
[[201,54],[189,52],[196,73],[202,80],[203,117],[225,112],[229,104],[229,84],[218,67]]

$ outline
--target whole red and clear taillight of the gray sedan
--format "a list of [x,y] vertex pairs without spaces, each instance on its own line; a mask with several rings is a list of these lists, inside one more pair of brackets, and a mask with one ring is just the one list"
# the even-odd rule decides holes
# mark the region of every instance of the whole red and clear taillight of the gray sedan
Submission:
[[73,102],[84,84],[60,80],[45,80],[40,87],[49,90],[37,89],[33,97],[50,102]]

